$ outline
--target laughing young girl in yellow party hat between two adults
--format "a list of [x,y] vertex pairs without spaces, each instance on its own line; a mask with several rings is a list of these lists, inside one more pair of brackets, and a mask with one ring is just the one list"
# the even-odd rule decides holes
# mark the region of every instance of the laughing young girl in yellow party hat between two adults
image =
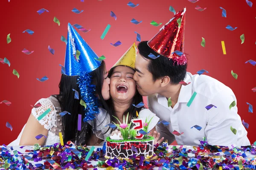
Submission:
[[[119,123],[114,116],[117,117],[120,122],[123,122],[123,116],[126,117],[128,113],[129,122],[131,119],[137,117],[137,112],[140,118],[143,119],[143,122],[145,122],[146,119],[150,120],[154,117],[148,127],[148,130],[152,131],[155,130],[154,126],[159,121],[159,118],[144,106],[140,108],[133,106],[133,104],[137,105],[143,101],[143,97],[138,93],[136,82],[133,79],[136,54],[137,51],[134,43],[108,73],[108,77],[110,78],[111,99],[107,101],[107,104],[110,108],[110,112],[96,116],[96,135],[100,139],[105,140],[113,131],[110,127],[105,127],[106,125],[111,122]],[[151,135],[155,137],[155,144],[163,141],[163,138],[158,140],[160,133],[154,131],[154,134]]]

